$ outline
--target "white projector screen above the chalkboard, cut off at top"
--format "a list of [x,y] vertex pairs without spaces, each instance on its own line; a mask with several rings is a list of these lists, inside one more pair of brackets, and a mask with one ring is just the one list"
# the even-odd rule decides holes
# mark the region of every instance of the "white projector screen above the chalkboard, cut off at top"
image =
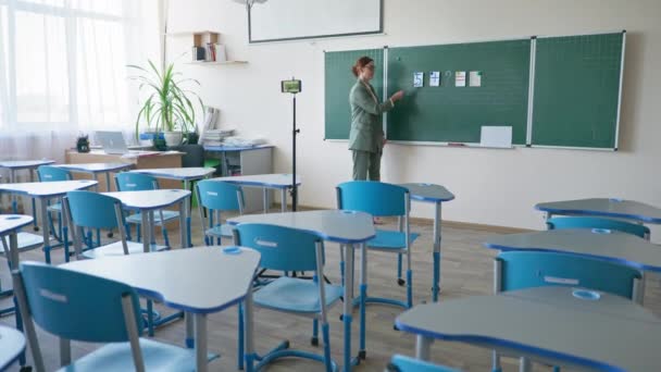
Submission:
[[383,32],[383,0],[269,0],[248,13],[250,42]]

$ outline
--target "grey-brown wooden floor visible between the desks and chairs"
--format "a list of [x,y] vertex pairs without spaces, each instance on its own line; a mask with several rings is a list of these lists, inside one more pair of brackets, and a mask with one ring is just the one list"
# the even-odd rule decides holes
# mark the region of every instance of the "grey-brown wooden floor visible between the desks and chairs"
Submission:
[[[197,213],[194,213],[197,214]],[[541,218],[541,216],[540,216]],[[386,227],[394,224],[386,224]],[[428,223],[414,223],[412,230],[421,233],[421,237],[413,245],[413,286],[414,303],[428,301],[432,283],[432,225]],[[171,241],[178,241],[178,228],[170,228]],[[494,252],[483,248],[482,243],[494,231],[462,227],[442,227],[442,263],[441,263],[441,300],[450,300],[473,295],[491,293],[491,259]],[[194,218],[194,245],[201,244],[199,220]],[[326,248],[326,274],[335,283],[339,283],[339,250],[337,245],[328,244]],[[22,260],[43,261],[40,250],[22,253]],[[53,261],[63,261],[62,250],[55,250]],[[370,294],[385,297],[404,299],[406,289],[396,283],[396,257],[394,255],[370,252],[369,258]],[[358,277],[358,276],[357,276]],[[2,287],[10,286],[10,277],[4,262],[0,263],[0,280]],[[176,280],[176,273],[173,273]],[[219,283],[219,287],[222,287]],[[658,314],[661,313],[660,286],[657,276],[650,276],[646,287],[646,307]],[[0,308],[10,306],[8,298],[0,300]],[[159,308],[163,312],[169,309]],[[394,354],[413,355],[414,338],[403,332],[392,330],[394,320],[401,310],[387,306],[367,307],[367,359],[356,368],[357,371],[383,371],[390,356]],[[330,311],[330,345],[333,358],[341,363],[342,327],[339,321],[341,303],[337,303]],[[255,314],[255,345],[259,352],[274,347],[282,339],[289,339],[292,348],[319,350],[310,346],[312,332],[311,321],[294,315],[282,314],[267,310],[257,310]],[[356,315],[356,319],[358,317]],[[1,323],[14,324],[14,317],[3,317]],[[210,371],[235,371],[236,368],[236,324],[237,311],[235,308],[209,317],[209,348],[222,354],[221,359],[210,363]],[[162,342],[182,345],[185,335],[184,322],[178,321],[172,325],[157,331],[155,338]],[[358,321],[353,322],[353,349],[358,346]],[[614,335],[615,336],[615,335]],[[47,369],[55,370],[58,367],[57,340],[40,333],[41,349],[45,355]],[[85,355],[93,349],[95,345],[72,345],[74,358]],[[490,352],[484,349],[456,343],[436,343],[433,346],[433,360],[464,371],[489,371]],[[29,357],[28,357],[29,362]],[[17,371],[17,368],[10,371]],[[289,359],[275,362],[267,371],[322,371],[320,363]],[[504,371],[516,371],[517,364],[512,359],[503,360]],[[535,365],[535,370],[548,371],[550,369]]]

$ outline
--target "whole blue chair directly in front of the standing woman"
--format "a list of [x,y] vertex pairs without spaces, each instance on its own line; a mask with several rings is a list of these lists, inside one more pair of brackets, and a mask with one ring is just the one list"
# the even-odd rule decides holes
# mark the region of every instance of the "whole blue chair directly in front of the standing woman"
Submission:
[[[413,271],[411,269],[411,244],[420,234],[411,233],[409,210],[411,199],[404,187],[371,181],[353,181],[340,184],[337,190],[337,208],[370,213],[373,216],[397,216],[399,231],[376,230],[376,237],[366,243],[369,249],[392,252],[398,255],[398,283],[407,285],[407,301],[389,298],[367,297],[367,288],[361,286],[361,298],[365,302],[386,303],[409,309],[413,306]],[[364,252],[363,252],[364,255]],[[407,280],[401,277],[401,255],[407,256]],[[348,258],[349,259],[349,258]],[[340,262],[340,273],[344,272],[344,257]]]

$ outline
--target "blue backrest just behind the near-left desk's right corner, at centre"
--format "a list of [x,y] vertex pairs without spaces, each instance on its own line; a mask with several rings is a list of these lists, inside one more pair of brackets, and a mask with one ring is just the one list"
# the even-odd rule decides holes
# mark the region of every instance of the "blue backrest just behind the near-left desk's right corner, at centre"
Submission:
[[316,245],[323,252],[323,240],[301,230],[245,223],[236,226],[234,234],[236,245],[253,248],[262,255],[260,266],[264,269],[316,271]]

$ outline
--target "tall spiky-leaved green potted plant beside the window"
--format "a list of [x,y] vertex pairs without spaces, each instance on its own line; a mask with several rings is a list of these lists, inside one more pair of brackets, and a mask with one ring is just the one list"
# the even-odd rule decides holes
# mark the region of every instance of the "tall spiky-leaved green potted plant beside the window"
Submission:
[[184,134],[196,129],[195,107],[189,97],[197,98],[200,108],[204,108],[201,98],[186,85],[199,86],[200,83],[183,78],[182,73],[174,71],[174,63],[165,66],[164,71],[159,71],[152,61],[148,62],[149,70],[137,65],[128,66],[139,72],[137,76],[130,77],[140,83],[139,89],[149,91],[136,119],[136,138],[139,138],[140,121],[144,121],[157,133],[153,137],[154,147],[162,146],[158,135],[160,133],[163,134],[166,146],[178,146]]

